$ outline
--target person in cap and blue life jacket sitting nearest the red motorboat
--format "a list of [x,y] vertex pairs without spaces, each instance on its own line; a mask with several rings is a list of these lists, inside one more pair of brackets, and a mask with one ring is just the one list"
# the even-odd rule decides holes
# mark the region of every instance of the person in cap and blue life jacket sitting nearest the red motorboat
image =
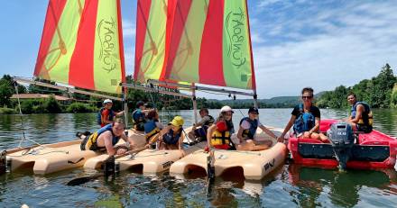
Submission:
[[276,135],[269,129],[267,129],[258,119],[259,111],[255,107],[250,107],[248,110],[248,117],[243,118],[240,121],[240,129],[237,132],[237,138],[240,140],[240,144],[237,145],[237,150],[263,150],[269,149],[272,146],[272,140],[266,140],[263,143],[259,143],[254,140],[256,129],[261,128],[270,137],[277,140]]

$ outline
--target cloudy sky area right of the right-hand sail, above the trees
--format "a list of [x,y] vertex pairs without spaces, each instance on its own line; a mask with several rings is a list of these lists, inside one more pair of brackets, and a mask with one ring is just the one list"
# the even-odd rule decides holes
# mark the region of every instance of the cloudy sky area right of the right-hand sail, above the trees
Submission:
[[[260,4],[269,7],[270,2],[277,3]],[[272,14],[266,13],[270,10]],[[258,95],[299,95],[304,86],[317,92],[353,86],[376,76],[386,62],[395,68],[396,10],[392,2],[330,1],[286,10],[264,8],[254,16],[253,28]]]

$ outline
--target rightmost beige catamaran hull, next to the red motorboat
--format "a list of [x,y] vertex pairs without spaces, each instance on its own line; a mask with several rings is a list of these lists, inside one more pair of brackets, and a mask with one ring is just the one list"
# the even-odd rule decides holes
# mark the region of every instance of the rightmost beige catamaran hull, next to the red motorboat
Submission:
[[[282,130],[272,129],[278,135]],[[281,142],[276,142],[257,131],[258,140],[272,140],[273,145],[270,149],[261,151],[238,151],[238,150],[215,150],[215,174],[222,176],[228,170],[243,171],[245,179],[260,180],[263,176],[271,173],[276,167],[284,163],[287,155],[287,147]],[[258,138],[259,137],[259,138]],[[235,135],[232,140],[235,140]],[[198,150],[185,158],[181,158],[173,163],[170,168],[171,176],[181,176],[191,171],[207,173],[208,153]],[[203,171],[204,170],[204,171]]]

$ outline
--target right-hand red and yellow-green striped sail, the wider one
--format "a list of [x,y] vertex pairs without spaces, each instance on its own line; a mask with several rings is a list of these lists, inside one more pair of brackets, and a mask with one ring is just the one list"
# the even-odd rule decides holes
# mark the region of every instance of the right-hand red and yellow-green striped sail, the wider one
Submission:
[[254,89],[245,0],[138,0],[136,80]]

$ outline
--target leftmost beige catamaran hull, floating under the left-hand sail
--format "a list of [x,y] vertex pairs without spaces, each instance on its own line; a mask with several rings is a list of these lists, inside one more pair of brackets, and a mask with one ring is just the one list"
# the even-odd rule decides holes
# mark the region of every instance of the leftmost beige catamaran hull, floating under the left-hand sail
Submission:
[[99,155],[95,151],[80,150],[80,143],[81,140],[71,140],[31,149],[12,149],[7,151],[7,159],[11,160],[11,171],[32,170],[34,174],[51,174],[81,167],[88,158]]

